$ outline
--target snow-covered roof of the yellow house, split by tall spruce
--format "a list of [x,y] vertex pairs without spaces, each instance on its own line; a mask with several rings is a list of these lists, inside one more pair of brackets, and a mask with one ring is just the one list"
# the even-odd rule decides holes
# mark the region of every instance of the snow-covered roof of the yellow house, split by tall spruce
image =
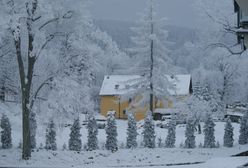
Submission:
[[[168,81],[172,83],[174,89],[168,90],[171,95],[188,95],[190,93],[191,75],[174,75],[172,78],[166,75]],[[122,95],[134,89],[127,88],[128,81],[140,79],[140,75],[107,75],[104,77],[100,90],[101,96]]]

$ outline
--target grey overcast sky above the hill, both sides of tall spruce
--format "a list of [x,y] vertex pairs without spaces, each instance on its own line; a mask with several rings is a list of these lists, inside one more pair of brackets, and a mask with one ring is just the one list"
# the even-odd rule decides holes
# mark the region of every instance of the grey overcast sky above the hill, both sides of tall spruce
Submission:
[[[142,12],[146,0],[91,0],[90,10],[95,19],[135,21]],[[193,0],[157,0],[158,15],[168,18],[169,24],[196,26]]]

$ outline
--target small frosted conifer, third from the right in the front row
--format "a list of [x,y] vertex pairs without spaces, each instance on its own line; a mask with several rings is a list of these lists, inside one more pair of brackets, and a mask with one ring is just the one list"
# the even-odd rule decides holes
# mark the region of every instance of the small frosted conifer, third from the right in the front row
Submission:
[[204,148],[215,147],[215,136],[214,136],[215,123],[210,114],[207,115],[204,125]]

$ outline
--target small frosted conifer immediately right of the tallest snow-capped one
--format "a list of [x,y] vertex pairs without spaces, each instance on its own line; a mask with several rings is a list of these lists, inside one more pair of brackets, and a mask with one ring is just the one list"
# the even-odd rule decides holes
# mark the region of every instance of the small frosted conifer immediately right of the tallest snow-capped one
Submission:
[[128,115],[127,148],[137,147],[137,125],[133,114]]

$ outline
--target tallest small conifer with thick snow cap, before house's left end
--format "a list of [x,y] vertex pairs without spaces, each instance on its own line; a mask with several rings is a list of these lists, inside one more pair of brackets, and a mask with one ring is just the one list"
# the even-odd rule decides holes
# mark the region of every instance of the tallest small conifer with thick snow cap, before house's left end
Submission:
[[105,147],[107,150],[115,152],[118,150],[117,146],[117,127],[114,112],[108,113],[107,126],[105,128],[107,139]]

